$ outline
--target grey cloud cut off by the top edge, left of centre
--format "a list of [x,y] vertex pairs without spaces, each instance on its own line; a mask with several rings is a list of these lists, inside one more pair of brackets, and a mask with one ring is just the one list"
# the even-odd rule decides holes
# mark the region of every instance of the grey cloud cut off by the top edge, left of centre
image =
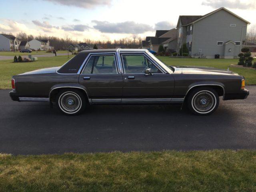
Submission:
[[76,6],[80,8],[92,8],[99,5],[110,5],[112,0],[45,0],[56,4],[62,4],[66,6]]

